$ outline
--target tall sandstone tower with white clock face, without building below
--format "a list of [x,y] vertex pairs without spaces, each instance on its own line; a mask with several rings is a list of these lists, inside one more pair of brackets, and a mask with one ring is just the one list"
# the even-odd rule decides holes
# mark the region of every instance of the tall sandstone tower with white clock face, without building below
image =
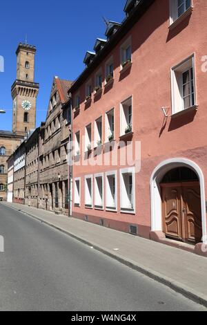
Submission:
[[12,131],[25,136],[36,127],[36,102],[39,84],[34,82],[36,47],[20,43],[17,48],[17,79],[12,84]]

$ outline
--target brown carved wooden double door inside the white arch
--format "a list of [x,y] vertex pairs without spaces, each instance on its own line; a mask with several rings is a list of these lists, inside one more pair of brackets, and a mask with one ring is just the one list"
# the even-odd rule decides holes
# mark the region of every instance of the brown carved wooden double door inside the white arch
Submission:
[[200,243],[202,237],[199,182],[161,184],[163,230],[166,237]]

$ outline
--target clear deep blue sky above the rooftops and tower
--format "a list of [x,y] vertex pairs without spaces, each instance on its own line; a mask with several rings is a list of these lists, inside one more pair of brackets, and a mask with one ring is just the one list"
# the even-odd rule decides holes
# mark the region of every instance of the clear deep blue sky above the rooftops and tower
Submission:
[[35,81],[40,90],[37,100],[37,126],[46,119],[46,110],[54,75],[75,80],[83,71],[86,50],[95,39],[104,37],[103,19],[122,21],[126,0],[1,1],[0,55],[5,71],[0,72],[0,129],[12,126],[10,89],[16,78],[15,51],[20,41],[37,46]]

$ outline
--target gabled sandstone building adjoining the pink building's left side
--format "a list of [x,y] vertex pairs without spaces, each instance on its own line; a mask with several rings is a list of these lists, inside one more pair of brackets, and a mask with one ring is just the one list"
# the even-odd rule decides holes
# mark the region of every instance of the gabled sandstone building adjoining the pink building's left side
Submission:
[[39,138],[39,208],[68,214],[68,160],[72,82],[55,77],[46,123]]

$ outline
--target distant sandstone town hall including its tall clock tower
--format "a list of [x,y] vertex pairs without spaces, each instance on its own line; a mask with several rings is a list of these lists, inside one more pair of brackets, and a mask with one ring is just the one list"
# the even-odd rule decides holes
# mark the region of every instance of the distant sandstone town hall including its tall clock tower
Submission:
[[[0,200],[7,198],[6,161],[30,129],[36,127],[39,84],[34,82],[35,46],[20,43],[17,48],[17,79],[12,84],[12,132],[0,131]],[[0,117],[1,120],[1,117]]]

